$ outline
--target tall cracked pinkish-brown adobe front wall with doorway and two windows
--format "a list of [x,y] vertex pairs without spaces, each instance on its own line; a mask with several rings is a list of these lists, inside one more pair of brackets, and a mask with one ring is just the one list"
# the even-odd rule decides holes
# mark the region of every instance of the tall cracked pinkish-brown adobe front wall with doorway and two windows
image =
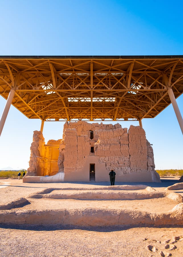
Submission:
[[[89,181],[89,165],[95,164],[95,180],[108,181],[111,169],[116,181],[158,181],[153,149],[143,128],[83,121],[65,123],[60,147],[65,147],[64,181]],[[94,138],[90,138],[90,131]],[[91,152],[94,146],[94,153]]]

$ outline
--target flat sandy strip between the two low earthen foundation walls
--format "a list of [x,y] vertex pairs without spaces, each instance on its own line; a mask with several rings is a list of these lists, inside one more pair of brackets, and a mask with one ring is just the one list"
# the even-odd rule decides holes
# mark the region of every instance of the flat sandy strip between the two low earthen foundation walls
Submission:
[[[73,209],[74,208],[108,208],[113,209],[126,209],[126,210],[141,210],[147,211],[147,206],[149,205],[149,199],[143,200],[123,200],[123,201],[115,201],[115,200],[100,200],[100,201],[90,201],[90,200],[75,200],[75,199],[31,199],[30,204],[24,206],[21,209],[31,210],[54,210],[58,207],[60,209]],[[154,198],[151,199],[151,205],[148,207],[148,212],[151,213],[159,213],[163,211],[169,211],[176,205],[175,201],[168,198]],[[19,208],[20,209],[20,208]]]

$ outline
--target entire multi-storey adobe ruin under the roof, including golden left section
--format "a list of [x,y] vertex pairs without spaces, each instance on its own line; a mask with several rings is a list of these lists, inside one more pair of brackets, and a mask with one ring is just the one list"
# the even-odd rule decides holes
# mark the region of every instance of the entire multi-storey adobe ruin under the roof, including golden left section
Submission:
[[49,140],[34,131],[29,168],[23,182],[109,181],[161,182],[153,148],[140,126],[66,122],[63,139]]

